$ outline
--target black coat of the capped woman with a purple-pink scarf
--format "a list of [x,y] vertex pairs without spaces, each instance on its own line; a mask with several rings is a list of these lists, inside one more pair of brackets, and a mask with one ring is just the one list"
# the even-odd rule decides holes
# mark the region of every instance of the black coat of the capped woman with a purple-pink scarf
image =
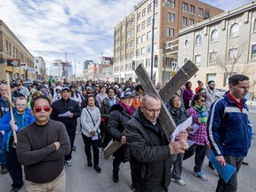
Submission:
[[[133,109],[133,114],[134,113],[135,108]],[[124,132],[126,129],[127,123],[131,118],[132,115],[130,115],[120,104],[113,105],[110,108],[110,115],[108,118],[108,133],[111,135],[112,139],[121,142],[121,138],[124,135],[122,132]],[[124,163],[129,161],[130,154],[127,145],[124,144],[121,148],[118,148],[113,156],[119,158]]]

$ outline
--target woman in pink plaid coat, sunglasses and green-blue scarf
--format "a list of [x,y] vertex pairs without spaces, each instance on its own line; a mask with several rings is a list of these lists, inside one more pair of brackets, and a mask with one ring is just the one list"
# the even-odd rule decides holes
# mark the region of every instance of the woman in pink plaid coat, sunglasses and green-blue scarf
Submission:
[[183,160],[193,156],[196,152],[194,172],[193,174],[201,180],[207,180],[207,177],[202,172],[206,148],[209,145],[209,140],[206,132],[206,122],[208,111],[205,107],[206,96],[202,93],[197,93],[192,100],[192,107],[188,108],[188,114],[193,118],[193,127],[198,127],[194,134],[189,133],[188,140],[195,143],[188,148],[184,154]]

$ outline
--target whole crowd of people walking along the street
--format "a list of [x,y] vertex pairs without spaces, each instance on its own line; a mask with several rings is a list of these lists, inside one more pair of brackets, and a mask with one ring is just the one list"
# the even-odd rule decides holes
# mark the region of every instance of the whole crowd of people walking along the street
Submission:
[[[19,191],[24,184],[26,191],[65,191],[64,165],[73,164],[77,132],[84,140],[88,167],[93,166],[98,173],[100,153],[111,140],[122,144],[113,154],[112,180],[119,182],[119,167],[129,162],[133,191],[168,191],[171,180],[185,186],[182,162],[194,154],[193,174],[207,180],[202,169],[204,157],[209,158],[211,153],[221,166],[228,163],[236,167],[228,183],[220,177],[216,191],[236,191],[236,175],[252,138],[244,99],[250,87],[247,76],[231,76],[229,91],[217,101],[214,81],[206,88],[198,81],[196,92],[187,82],[170,96],[166,107],[175,124],[182,124],[189,116],[193,122],[171,142],[158,119],[161,98],[157,93],[146,94],[141,84],[131,79],[118,84],[66,79],[55,82],[50,78],[48,82],[28,84],[28,88],[20,78],[10,85],[1,83],[1,174],[9,172],[11,192]],[[161,88],[162,84],[156,85],[156,91]],[[209,166],[215,170],[210,161]]]

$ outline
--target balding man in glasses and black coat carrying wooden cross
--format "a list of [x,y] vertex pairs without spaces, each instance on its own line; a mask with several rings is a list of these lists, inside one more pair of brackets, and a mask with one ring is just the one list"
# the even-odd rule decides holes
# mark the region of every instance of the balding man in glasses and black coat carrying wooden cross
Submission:
[[159,121],[161,101],[148,93],[138,112],[128,122],[126,141],[131,153],[132,188],[135,191],[168,191],[171,182],[172,155],[188,149],[188,133],[168,142]]

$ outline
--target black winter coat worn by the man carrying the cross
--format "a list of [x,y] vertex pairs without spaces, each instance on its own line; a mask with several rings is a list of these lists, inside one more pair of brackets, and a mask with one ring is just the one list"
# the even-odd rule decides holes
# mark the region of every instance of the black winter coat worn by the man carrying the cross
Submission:
[[168,191],[175,156],[173,159],[164,132],[156,132],[139,109],[128,122],[126,140],[134,188],[141,192]]

